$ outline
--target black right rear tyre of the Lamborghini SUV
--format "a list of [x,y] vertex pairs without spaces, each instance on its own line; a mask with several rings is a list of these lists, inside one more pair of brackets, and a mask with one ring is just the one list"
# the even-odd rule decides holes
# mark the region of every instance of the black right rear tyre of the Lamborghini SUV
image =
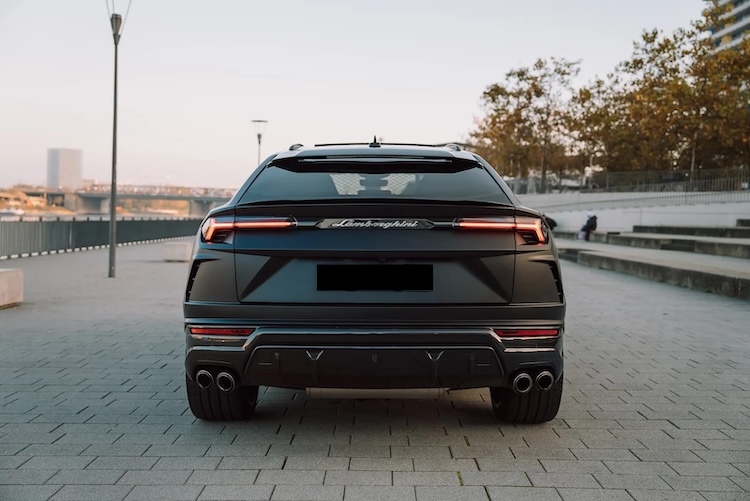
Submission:
[[550,421],[557,416],[562,400],[563,377],[547,391],[532,388],[519,394],[510,388],[490,388],[492,412],[500,421],[533,424]]

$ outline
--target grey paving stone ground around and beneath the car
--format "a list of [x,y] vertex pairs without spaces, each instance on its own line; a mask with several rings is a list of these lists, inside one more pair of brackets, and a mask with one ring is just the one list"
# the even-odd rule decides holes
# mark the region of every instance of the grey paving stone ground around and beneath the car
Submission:
[[[307,400],[255,418],[187,407],[185,263],[160,246],[0,261],[0,500],[750,500],[750,308],[563,263],[565,390],[554,421],[440,401]],[[696,255],[696,259],[700,259]]]

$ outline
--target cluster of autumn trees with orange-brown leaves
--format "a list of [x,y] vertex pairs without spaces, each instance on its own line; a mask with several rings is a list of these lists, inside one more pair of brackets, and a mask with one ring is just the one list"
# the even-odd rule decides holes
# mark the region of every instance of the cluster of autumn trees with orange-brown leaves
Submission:
[[645,31],[628,60],[580,88],[578,63],[511,70],[482,95],[478,152],[503,174],[540,172],[542,191],[560,149],[608,172],[750,168],[750,37],[717,48],[710,30],[726,13],[712,0],[689,28]]

